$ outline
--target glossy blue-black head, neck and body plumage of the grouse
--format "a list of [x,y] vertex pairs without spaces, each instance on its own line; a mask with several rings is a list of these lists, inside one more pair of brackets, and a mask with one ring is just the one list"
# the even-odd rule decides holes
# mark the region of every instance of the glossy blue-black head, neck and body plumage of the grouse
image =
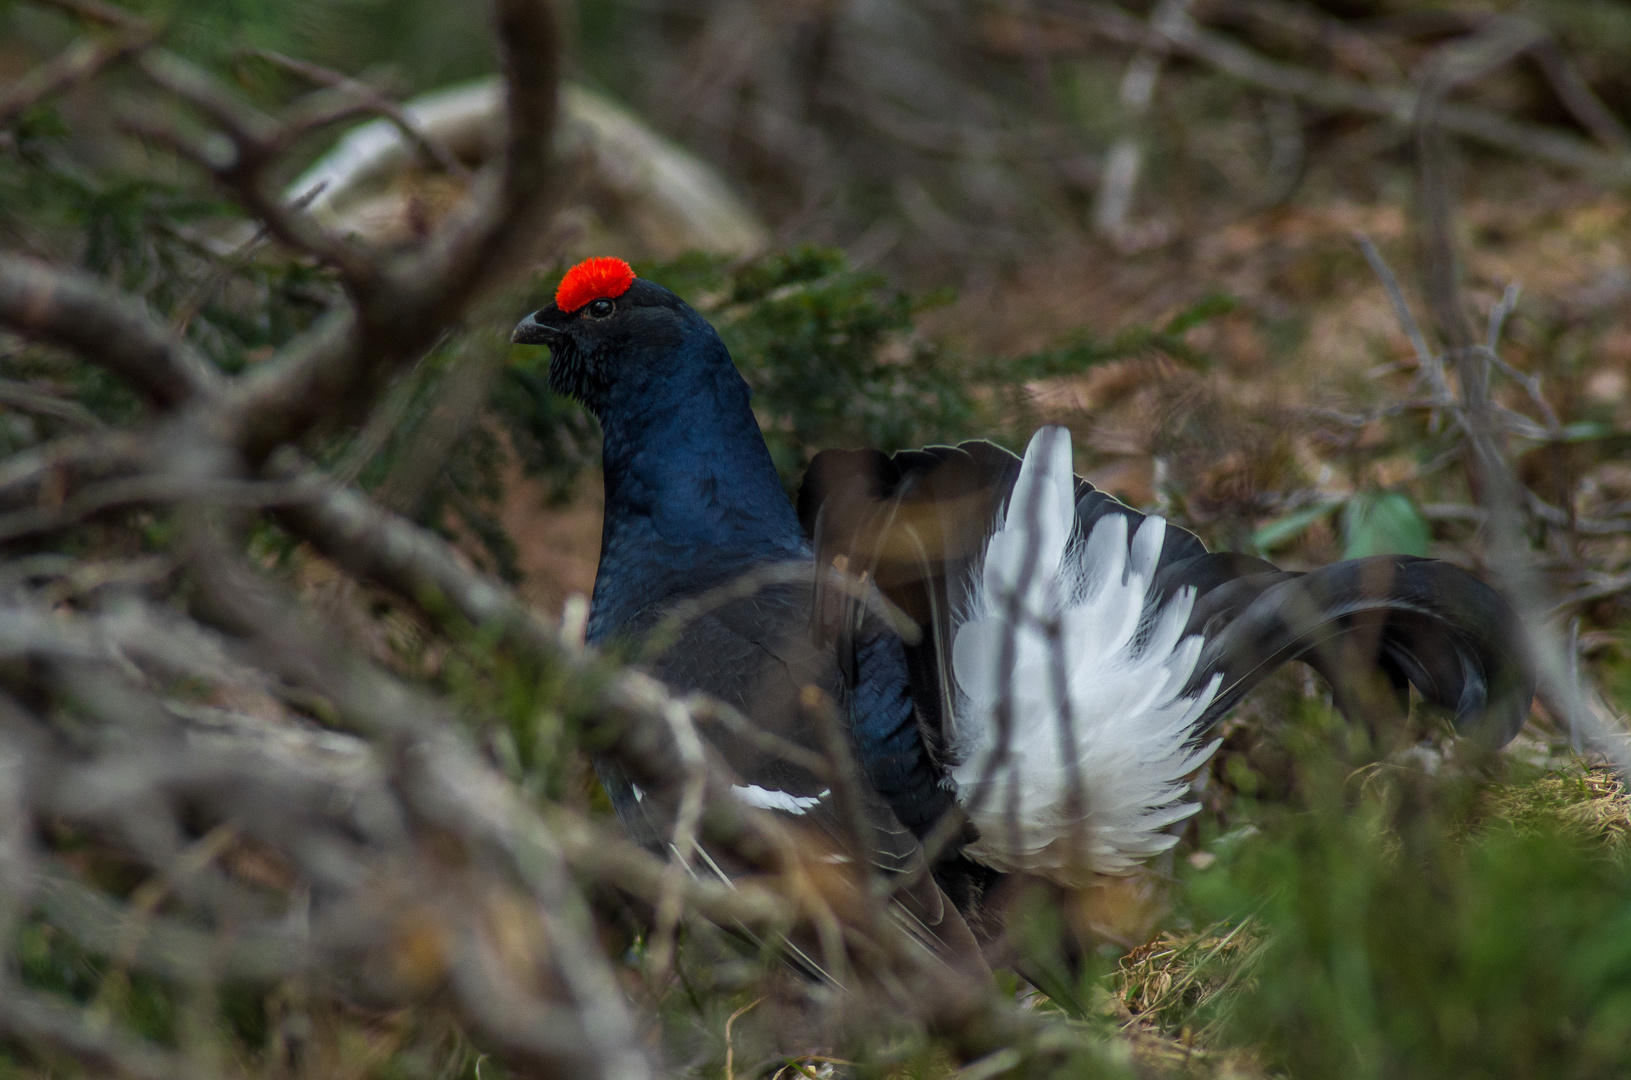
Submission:
[[[701,600],[705,610],[651,657],[656,674],[721,697],[812,749],[820,741],[799,695],[807,685],[822,690],[848,721],[856,760],[881,796],[871,808],[884,837],[879,861],[910,861],[908,834],[925,834],[951,796],[918,736],[904,643],[866,623],[846,635],[853,656],[840,664],[835,643],[820,641],[819,630],[812,636],[811,545],[750,390],[713,326],[661,285],[636,281],[581,310],[545,308],[515,336],[551,347],[551,385],[584,401],[603,432],[605,520],[589,640],[641,638],[677,604]],[[786,573],[718,604],[706,599],[770,568]],[[750,747],[724,754],[745,788],[781,793],[786,806],[827,790]],[[801,816],[825,821],[830,808],[812,804]],[[908,834],[891,840],[902,824]]]

